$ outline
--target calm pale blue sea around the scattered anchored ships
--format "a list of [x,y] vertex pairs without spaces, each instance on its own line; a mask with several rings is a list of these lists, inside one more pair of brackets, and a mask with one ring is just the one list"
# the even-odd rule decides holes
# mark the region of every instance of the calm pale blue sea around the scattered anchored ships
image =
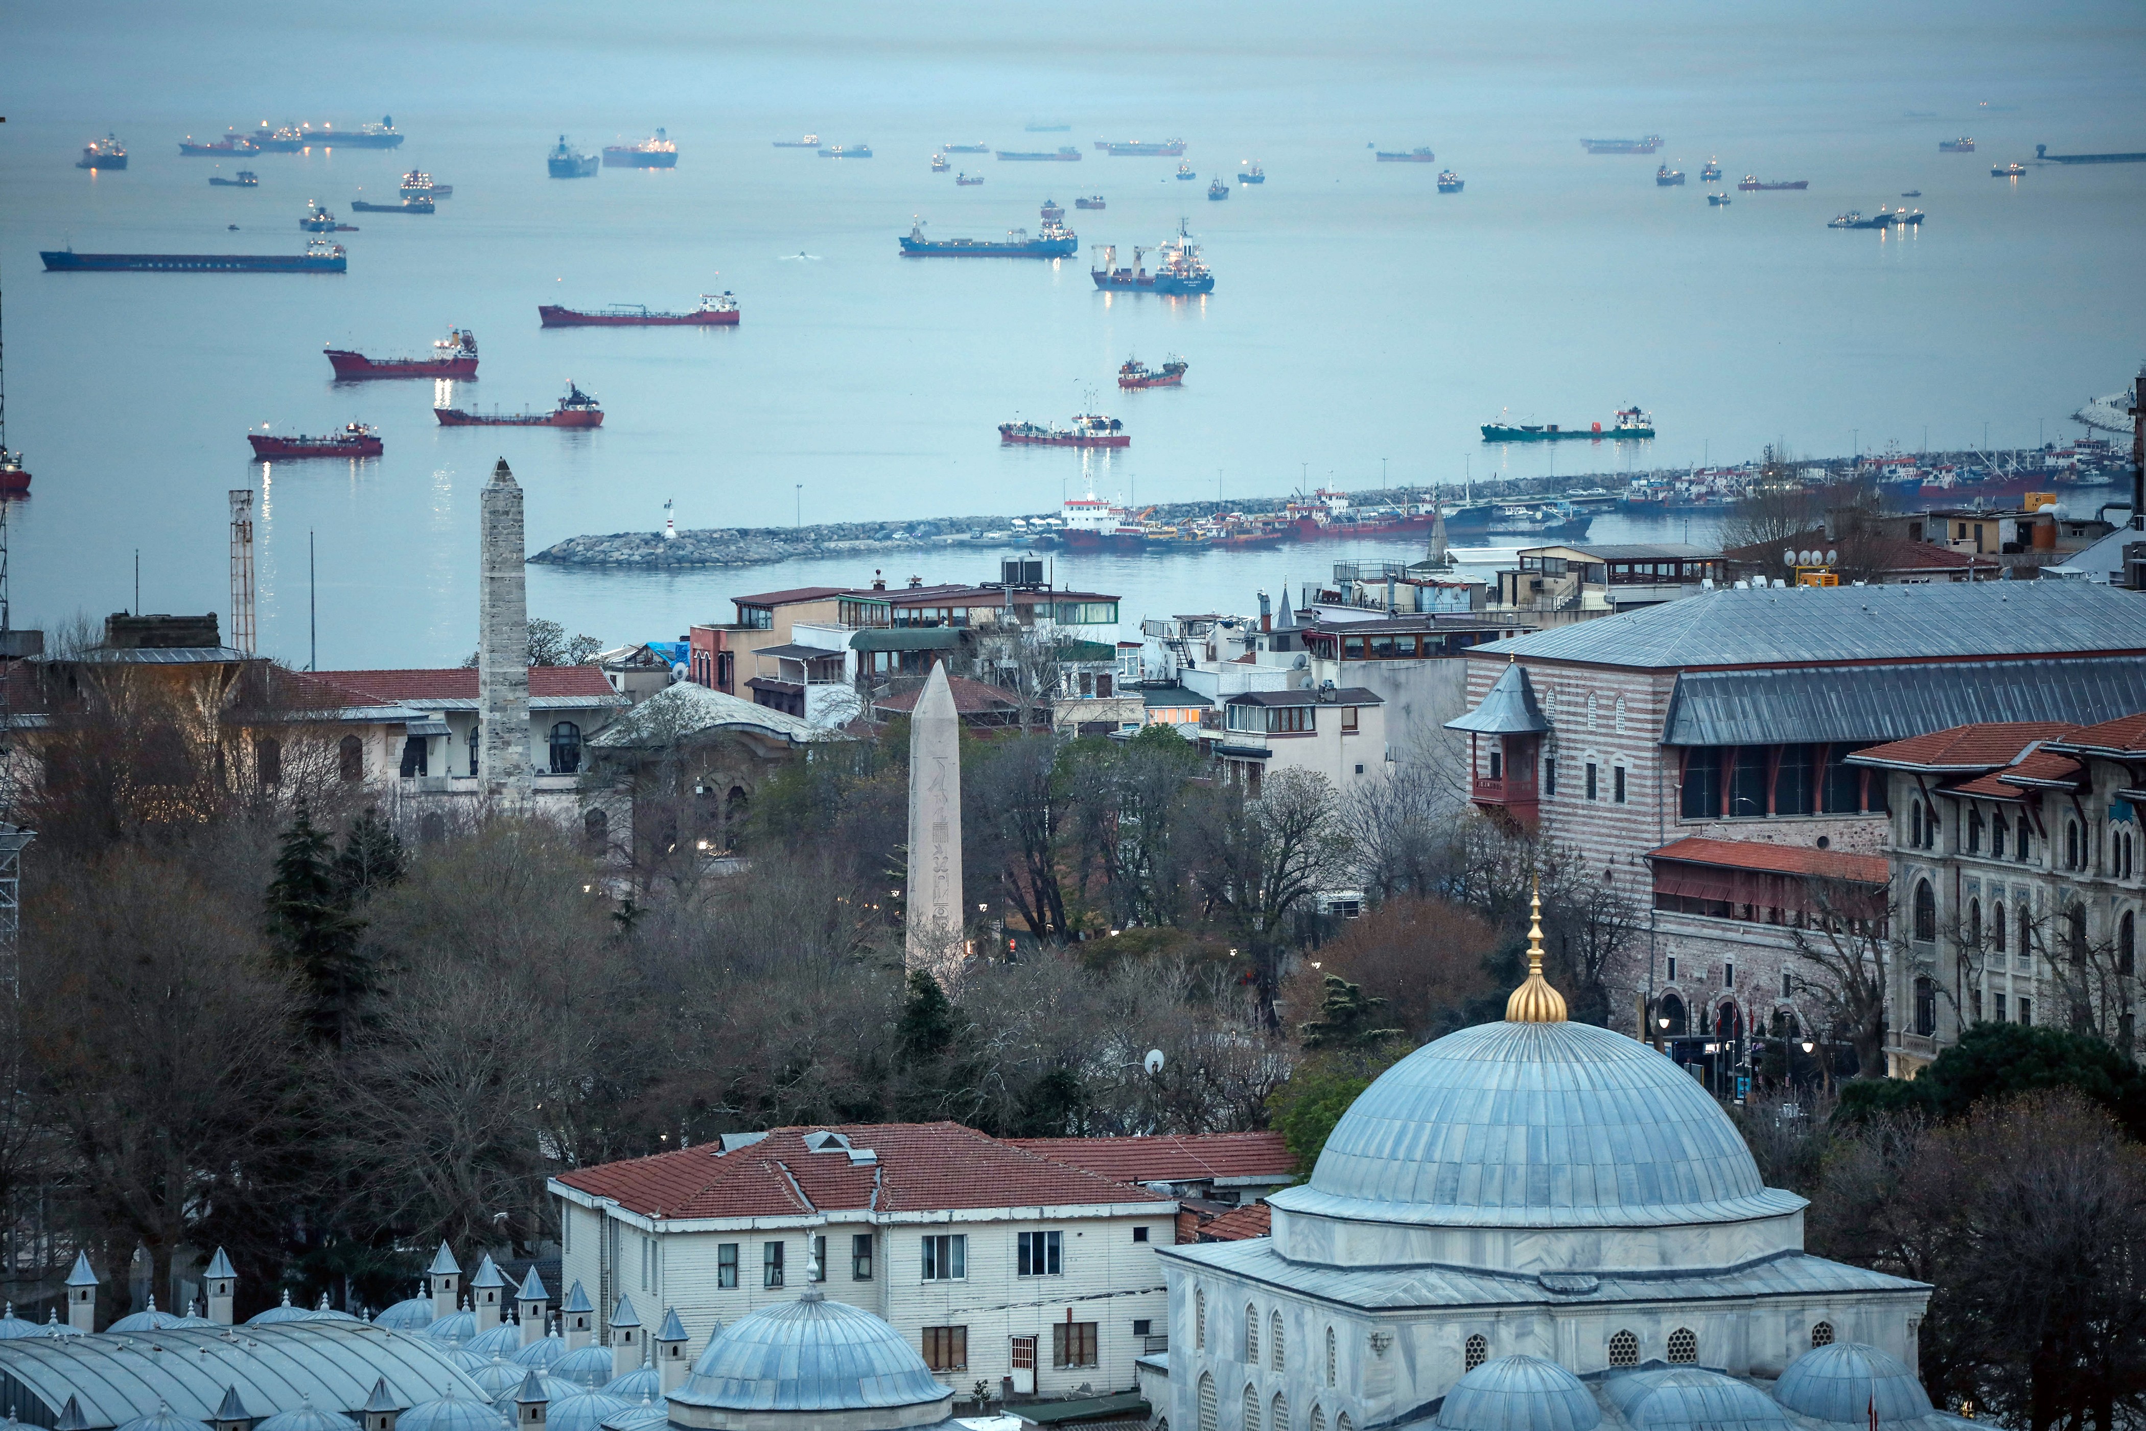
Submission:
[[[575,532],[841,517],[1030,513],[1088,481],[1103,496],[1275,493],[1298,481],[1459,483],[1487,470],[1622,470],[1899,442],[2026,444],[2114,390],[2140,356],[2146,165],[1991,163],[2146,148],[2127,4],[1798,6],[1794,24],[1708,4],[1597,9],[861,4],[11,6],[0,129],[9,444],[36,496],[17,508],[17,622],[142,605],[227,609],[225,489],[262,489],[262,646],[307,657],[307,536],[320,663],[429,665],[474,646],[476,485],[506,455],[530,547]],[[1989,105],[1983,109],[1981,105]],[[401,150],[242,161],[210,189],[185,133],[382,112]],[[1908,118],[1910,112],[1927,118]],[[1028,118],[1071,124],[1026,135]],[[665,124],[676,172],[545,178],[560,131],[584,148]],[[73,159],[92,133],[122,174]],[[835,163],[770,139],[869,142]],[[1667,137],[1659,157],[1588,157],[1579,135]],[[1979,152],[1938,154],[1970,133]],[[1101,135],[1189,142],[1109,159]],[[953,157],[944,142],[1077,144],[1079,165]],[[1438,165],[1376,165],[1429,144]],[[1700,165],[1807,193],[1708,210]],[[1268,182],[1204,197],[1212,174]],[[1657,189],[1659,161],[1691,176]],[[1461,195],[1431,178],[1453,165]],[[403,167],[455,185],[433,217],[350,215]],[[240,167],[225,163],[223,172]],[[1843,208],[1929,212],[1906,240],[1828,232]],[[1107,195],[1105,212],[1073,197]],[[1056,197],[1084,253],[1062,264],[903,262],[936,234],[1034,227]],[[320,197],[361,225],[346,277],[45,275],[36,249],[296,251]],[[1088,245],[1152,245],[1185,215],[1212,298],[1097,294]],[[227,232],[225,225],[240,230]],[[539,303],[689,307],[730,287],[736,330],[554,330]],[[481,405],[549,405],[569,378],[603,399],[594,433],[440,429],[427,382],[335,386],[322,343],[416,352],[472,326]],[[1176,393],[1120,395],[1129,354],[1191,360]],[[1105,459],[1002,451],[1011,416],[1064,421],[1086,397],[1133,446]],[[1646,405],[1644,451],[1500,453],[1476,425],[1607,421]],[[367,463],[247,461],[249,425],[378,423]],[[1693,530],[1695,539],[1710,532]],[[1678,539],[1605,519],[1597,536]],[[1165,609],[1249,609],[1253,588],[1395,549],[1058,562],[1064,581]],[[865,581],[893,558],[678,577],[532,569],[532,611],[605,641],[727,618],[738,592]],[[925,579],[991,573],[946,558]],[[888,571],[908,577],[908,571]]]

